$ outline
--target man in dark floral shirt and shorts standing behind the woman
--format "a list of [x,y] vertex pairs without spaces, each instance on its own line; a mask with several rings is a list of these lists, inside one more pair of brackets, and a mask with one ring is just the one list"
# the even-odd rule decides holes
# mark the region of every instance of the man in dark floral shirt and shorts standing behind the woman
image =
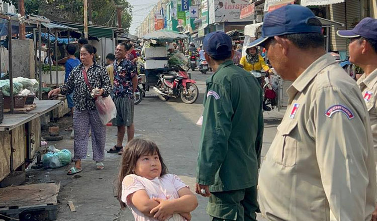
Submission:
[[108,153],[123,153],[123,138],[127,127],[127,141],[134,138],[134,92],[137,87],[136,66],[126,59],[126,44],[120,43],[115,49],[114,61],[114,103],[117,117],[113,126],[118,127],[117,144]]

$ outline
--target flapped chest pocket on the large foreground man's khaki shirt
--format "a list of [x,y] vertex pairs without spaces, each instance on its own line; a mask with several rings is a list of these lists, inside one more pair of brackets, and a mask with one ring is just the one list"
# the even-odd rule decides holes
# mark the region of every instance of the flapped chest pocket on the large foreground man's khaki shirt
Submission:
[[278,164],[292,167],[296,164],[297,157],[297,138],[295,137],[297,127],[296,120],[287,120],[281,122],[277,127],[279,136],[281,136],[280,153],[277,153]]

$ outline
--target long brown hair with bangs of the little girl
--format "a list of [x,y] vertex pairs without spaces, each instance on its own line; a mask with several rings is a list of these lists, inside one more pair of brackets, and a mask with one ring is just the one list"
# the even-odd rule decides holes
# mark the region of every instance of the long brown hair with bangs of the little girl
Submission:
[[120,165],[119,175],[116,184],[117,199],[122,208],[126,207],[126,203],[122,201],[122,181],[124,177],[130,174],[135,174],[136,161],[145,154],[157,153],[161,162],[161,174],[163,176],[167,173],[166,165],[161,157],[157,145],[153,141],[148,141],[140,138],[135,138],[130,141],[124,148],[122,161]]

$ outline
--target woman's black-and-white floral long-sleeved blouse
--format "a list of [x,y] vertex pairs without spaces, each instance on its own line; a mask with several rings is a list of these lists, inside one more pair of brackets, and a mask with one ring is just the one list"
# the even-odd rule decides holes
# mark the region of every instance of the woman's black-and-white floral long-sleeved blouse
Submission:
[[[95,109],[95,99],[91,97],[89,87],[86,85],[82,74],[83,64],[73,68],[67,82],[59,88],[61,94],[68,95],[73,92],[73,104],[78,111]],[[103,97],[107,97],[111,91],[110,77],[106,69],[94,63],[86,72],[89,84],[92,88],[104,89]]]

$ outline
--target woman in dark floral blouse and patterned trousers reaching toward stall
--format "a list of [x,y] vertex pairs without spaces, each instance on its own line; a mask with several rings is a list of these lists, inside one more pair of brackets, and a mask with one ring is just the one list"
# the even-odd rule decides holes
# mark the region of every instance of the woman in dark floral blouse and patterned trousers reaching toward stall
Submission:
[[67,81],[48,93],[48,96],[63,95],[73,92],[73,130],[74,130],[74,156],[75,165],[68,170],[67,174],[80,172],[81,159],[86,157],[87,144],[89,140],[89,129],[91,129],[91,146],[93,148],[93,160],[96,161],[97,169],[103,169],[102,161],[105,157],[105,140],[106,126],[101,123],[99,118],[95,98],[90,93],[91,89],[85,83],[84,73],[86,72],[90,88],[100,88],[95,97],[109,96],[111,83],[109,75],[104,67],[101,67],[93,61],[95,49],[93,46],[86,44],[81,47],[80,59],[81,64],[75,67],[69,74]]

